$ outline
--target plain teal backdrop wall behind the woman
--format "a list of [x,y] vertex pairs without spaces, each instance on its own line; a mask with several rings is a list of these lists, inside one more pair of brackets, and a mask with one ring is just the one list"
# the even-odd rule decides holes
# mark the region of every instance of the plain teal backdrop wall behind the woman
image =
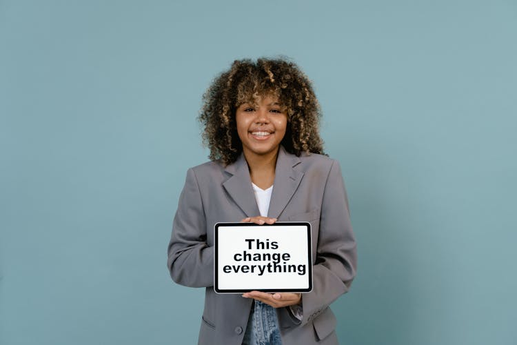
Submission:
[[341,344],[517,344],[516,1],[0,0],[0,344],[194,344],[165,265],[201,95],[314,81],[358,240]]

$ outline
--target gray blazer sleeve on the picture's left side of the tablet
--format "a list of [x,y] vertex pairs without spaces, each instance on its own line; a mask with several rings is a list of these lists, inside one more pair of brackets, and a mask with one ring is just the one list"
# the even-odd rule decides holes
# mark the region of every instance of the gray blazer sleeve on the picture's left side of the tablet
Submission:
[[214,284],[214,247],[206,243],[206,218],[194,170],[187,171],[172,224],[167,266],[174,282],[190,287]]

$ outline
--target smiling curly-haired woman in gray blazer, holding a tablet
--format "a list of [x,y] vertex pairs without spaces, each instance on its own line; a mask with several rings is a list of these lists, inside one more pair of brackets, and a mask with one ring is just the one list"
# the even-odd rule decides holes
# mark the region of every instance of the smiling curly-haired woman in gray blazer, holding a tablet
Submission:
[[[234,61],[203,97],[211,161],[190,168],[174,217],[174,282],[206,287],[199,344],[337,344],[328,306],[352,284],[356,242],[341,169],[323,153],[310,81],[290,61]],[[214,224],[310,221],[311,293],[214,293]]]

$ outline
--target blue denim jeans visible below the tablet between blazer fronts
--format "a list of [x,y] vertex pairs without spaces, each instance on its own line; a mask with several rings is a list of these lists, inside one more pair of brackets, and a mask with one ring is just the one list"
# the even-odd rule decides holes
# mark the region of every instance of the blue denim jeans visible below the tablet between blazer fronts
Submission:
[[243,345],[282,345],[275,308],[254,301],[250,318],[247,320]]

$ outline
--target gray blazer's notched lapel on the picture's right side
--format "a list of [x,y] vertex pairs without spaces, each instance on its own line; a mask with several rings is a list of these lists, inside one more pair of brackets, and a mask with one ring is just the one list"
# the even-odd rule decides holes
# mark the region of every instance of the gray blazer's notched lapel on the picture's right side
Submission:
[[278,158],[276,159],[273,193],[271,195],[270,209],[267,210],[267,217],[278,218],[294,195],[294,192],[296,192],[303,177],[303,172],[296,168],[298,164],[301,164],[301,160],[295,155],[287,153],[283,146],[280,146]]

